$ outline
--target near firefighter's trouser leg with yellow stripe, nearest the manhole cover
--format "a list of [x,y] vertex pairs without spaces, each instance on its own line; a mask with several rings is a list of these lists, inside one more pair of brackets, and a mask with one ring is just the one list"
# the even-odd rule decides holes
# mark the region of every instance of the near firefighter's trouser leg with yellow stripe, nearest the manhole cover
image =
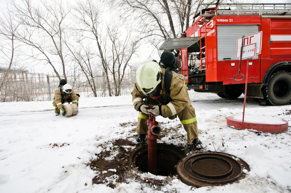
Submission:
[[191,103],[188,103],[184,110],[177,115],[187,132],[187,142],[191,143],[198,137],[195,109],[192,107]]

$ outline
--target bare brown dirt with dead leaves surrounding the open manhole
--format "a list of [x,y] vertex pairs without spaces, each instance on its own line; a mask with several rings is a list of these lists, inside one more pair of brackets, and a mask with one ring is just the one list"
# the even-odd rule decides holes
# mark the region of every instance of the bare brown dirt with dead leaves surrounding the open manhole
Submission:
[[[135,125],[136,122],[120,123],[121,127]],[[159,137],[161,139],[170,132],[177,132],[177,130],[182,127],[182,124],[178,128],[164,128],[162,124],[159,124],[159,126],[162,128],[162,132]],[[133,133],[136,131],[132,130],[129,132]],[[134,135],[133,137],[136,136],[137,135]],[[187,140],[187,136],[181,135],[177,137],[185,138],[185,140]],[[172,138],[172,136],[170,136],[170,138]],[[168,184],[172,179],[174,179],[173,175],[169,175],[166,180],[141,179],[141,177],[137,175],[137,173],[142,172],[139,171],[138,167],[136,167],[136,165],[132,162],[132,155],[138,148],[146,145],[146,143],[147,141],[140,144],[133,144],[132,141],[128,139],[117,139],[113,143],[113,148],[110,151],[105,151],[99,155],[96,155],[98,156],[97,160],[91,160],[91,169],[97,172],[97,175],[93,179],[93,183],[105,184],[111,188],[114,188],[117,187],[119,183],[128,183],[129,180],[133,180],[141,183],[148,183],[149,185],[155,185],[158,190],[160,190],[162,186]],[[135,146],[135,148],[127,148],[126,146]],[[185,153],[192,152],[192,148],[190,146],[178,148]],[[114,157],[112,156],[113,152],[116,154]],[[113,157],[113,159],[108,160],[109,157]]]

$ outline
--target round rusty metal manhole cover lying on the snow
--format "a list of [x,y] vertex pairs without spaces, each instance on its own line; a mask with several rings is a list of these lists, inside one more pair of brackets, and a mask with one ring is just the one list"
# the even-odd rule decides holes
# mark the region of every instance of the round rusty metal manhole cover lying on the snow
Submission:
[[250,171],[246,162],[222,152],[194,153],[177,165],[180,180],[195,187],[233,183],[244,178],[246,171]]

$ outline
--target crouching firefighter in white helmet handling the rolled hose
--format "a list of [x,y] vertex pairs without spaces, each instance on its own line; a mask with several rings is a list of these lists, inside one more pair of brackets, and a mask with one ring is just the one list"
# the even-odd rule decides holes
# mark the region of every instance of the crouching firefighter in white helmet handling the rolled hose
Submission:
[[[62,85],[61,83],[65,83]],[[60,81],[59,87],[56,89],[53,105],[55,108],[55,115],[59,115],[60,112],[62,115],[65,114],[65,109],[63,109],[63,104],[65,102],[70,102],[76,104],[78,106],[79,104],[79,94],[76,94],[74,90],[72,89],[72,86],[70,84],[67,84],[65,79],[62,79]]]

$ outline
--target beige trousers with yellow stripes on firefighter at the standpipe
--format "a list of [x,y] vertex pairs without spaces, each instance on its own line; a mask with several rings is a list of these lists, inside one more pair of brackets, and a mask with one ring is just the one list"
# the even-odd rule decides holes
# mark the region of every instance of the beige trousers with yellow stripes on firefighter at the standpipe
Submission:
[[[189,100],[186,107],[177,113],[181,123],[185,131],[187,132],[187,142],[191,143],[194,139],[198,137],[198,129],[197,129],[197,121],[195,109],[191,105],[191,101]],[[137,119],[136,132],[138,134],[148,133],[148,127],[145,124],[145,120],[148,119],[148,114],[143,112],[139,112],[139,117]],[[158,119],[158,116],[157,116]]]

